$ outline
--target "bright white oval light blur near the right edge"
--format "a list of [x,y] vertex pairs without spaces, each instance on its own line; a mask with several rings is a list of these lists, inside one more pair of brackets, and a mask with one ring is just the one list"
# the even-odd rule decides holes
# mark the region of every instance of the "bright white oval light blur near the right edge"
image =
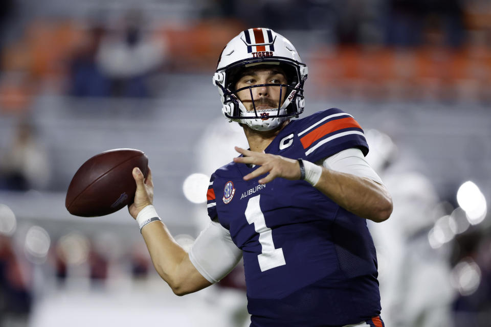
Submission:
[[474,182],[466,181],[460,185],[457,191],[457,202],[472,225],[479,224],[486,217],[486,199]]

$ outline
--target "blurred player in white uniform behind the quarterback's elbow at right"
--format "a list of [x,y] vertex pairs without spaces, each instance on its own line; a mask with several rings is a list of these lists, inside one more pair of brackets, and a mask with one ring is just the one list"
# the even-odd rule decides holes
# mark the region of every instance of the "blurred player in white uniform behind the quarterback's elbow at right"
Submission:
[[378,131],[366,135],[367,160],[381,174],[393,201],[389,220],[368,222],[377,248],[384,322],[392,327],[452,326],[454,290],[448,253],[444,246],[433,249],[428,240],[435,220],[443,216],[437,208],[438,196],[427,177],[401,167],[410,160],[398,160],[384,169],[395,159],[395,145]]

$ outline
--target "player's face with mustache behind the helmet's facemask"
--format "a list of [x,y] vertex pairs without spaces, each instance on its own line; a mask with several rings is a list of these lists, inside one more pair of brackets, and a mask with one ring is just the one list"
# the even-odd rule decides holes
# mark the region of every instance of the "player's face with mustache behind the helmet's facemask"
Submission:
[[[251,68],[245,71],[235,84],[235,89],[259,84],[286,84],[287,80],[283,71],[279,68]],[[285,99],[287,89],[281,90],[281,103]],[[258,86],[241,90],[237,93],[238,98],[248,111],[278,108],[280,101],[280,86]]]

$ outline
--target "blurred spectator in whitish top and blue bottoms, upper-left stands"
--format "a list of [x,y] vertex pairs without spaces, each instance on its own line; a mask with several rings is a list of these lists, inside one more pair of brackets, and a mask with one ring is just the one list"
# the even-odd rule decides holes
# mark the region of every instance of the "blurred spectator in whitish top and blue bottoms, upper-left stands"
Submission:
[[143,31],[144,17],[140,11],[129,11],[123,28],[106,33],[97,53],[97,64],[110,78],[111,96],[148,97],[149,77],[162,64],[166,45],[150,38]]

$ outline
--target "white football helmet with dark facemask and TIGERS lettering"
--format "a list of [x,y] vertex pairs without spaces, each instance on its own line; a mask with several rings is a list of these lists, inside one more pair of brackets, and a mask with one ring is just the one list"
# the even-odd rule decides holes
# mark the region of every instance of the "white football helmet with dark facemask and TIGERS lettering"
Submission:
[[[287,84],[259,84],[235,89],[241,69],[263,64],[279,65],[285,72]],[[302,63],[290,41],[270,29],[254,28],[240,32],[225,46],[218,58],[213,84],[218,87],[222,113],[230,122],[246,124],[258,131],[267,131],[277,128],[289,117],[298,117],[303,112],[303,84],[307,79],[307,72],[307,66]],[[252,97],[252,88],[262,86],[280,88],[278,108],[256,110],[255,99],[252,99],[254,111],[248,111],[239,100],[237,92],[249,89]]]

